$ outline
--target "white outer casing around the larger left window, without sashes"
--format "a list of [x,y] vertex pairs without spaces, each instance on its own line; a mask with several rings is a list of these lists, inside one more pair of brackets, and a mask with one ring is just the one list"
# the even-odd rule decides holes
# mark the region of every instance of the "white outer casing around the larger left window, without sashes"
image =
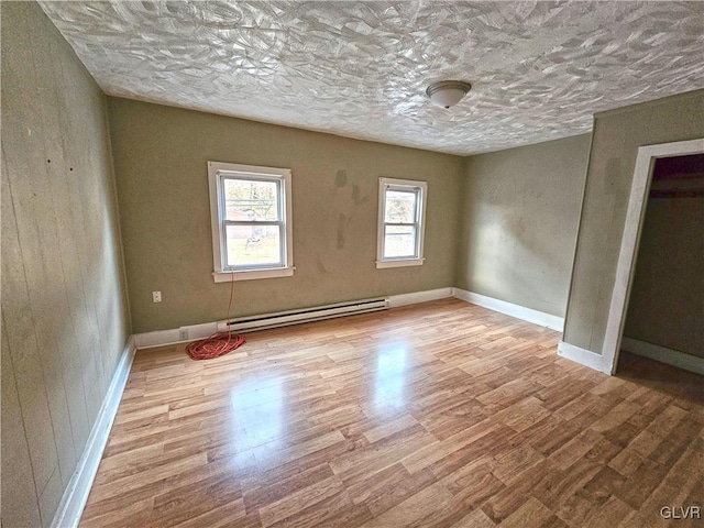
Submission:
[[[219,199],[223,176],[260,176],[273,177],[282,182],[282,194],[284,199],[283,218],[285,219],[285,262],[282,267],[267,267],[261,270],[226,270],[224,255],[222,254],[224,230],[222,222],[224,219],[224,204]],[[208,162],[208,183],[210,187],[210,222],[212,231],[212,264],[215,272],[212,278],[216,283],[231,280],[251,280],[257,278],[290,277],[294,275],[294,229],[292,222],[292,174],[288,168],[257,167],[254,165],[238,165],[233,163]]]

